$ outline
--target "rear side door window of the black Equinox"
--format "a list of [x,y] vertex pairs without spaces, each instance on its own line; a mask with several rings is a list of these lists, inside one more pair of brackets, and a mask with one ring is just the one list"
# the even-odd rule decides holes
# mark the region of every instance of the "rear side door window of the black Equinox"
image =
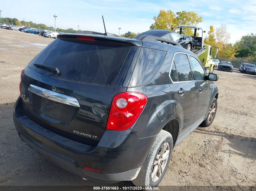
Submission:
[[192,72],[186,54],[176,54],[174,62],[178,74],[178,81],[191,81]]

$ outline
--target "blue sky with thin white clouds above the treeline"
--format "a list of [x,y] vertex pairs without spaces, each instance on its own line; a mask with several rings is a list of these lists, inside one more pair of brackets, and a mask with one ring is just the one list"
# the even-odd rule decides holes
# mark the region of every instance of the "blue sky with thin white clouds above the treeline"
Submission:
[[240,40],[243,35],[256,33],[255,0],[190,0],[190,1],[138,1],[138,0],[1,0],[2,17],[18,18],[35,23],[43,23],[56,28],[72,27],[77,30],[104,32],[101,15],[104,16],[107,32],[120,34],[128,31],[144,32],[149,30],[160,9],[177,11],[194,11],[203,18],[198,24],[208,32],[210,25],[214,28],[226,24],[231,33],[230,42]]

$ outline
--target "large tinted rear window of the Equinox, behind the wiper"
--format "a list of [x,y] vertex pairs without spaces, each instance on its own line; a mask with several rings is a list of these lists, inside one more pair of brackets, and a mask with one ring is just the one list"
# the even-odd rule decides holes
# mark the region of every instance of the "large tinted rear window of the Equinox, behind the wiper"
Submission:
[[[56,39],[33,59],[28,67],[55,78],[88,84],[114,86],[131,46]],[[57,67],[61,76],[34,64]]]

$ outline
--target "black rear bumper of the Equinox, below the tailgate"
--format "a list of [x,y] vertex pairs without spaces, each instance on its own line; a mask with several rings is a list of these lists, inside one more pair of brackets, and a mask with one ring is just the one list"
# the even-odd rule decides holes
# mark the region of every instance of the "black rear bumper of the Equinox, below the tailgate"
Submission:
[[[23,115],[20,97],[14,106],[13,120],[20,138],[45,159],[101,183],[135,179],[155,140],[155,137],[138,138],[128,129],[106,130],[96,147],[75,142],[38,126]],[[103,173],[85,170],[84,166]]]

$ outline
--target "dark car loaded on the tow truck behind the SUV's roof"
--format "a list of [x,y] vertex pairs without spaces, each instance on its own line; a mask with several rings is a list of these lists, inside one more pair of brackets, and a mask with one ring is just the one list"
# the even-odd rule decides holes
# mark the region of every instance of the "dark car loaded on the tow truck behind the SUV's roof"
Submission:
[[179,34],[174,31],[170,30],[159,30],[159,29],[153,29],[148,30],[146,32],[138,34],[136,37],[133,37],[134,39],[137,39],[138,37],[141,37],[142,35],[152,35],[155,37],[161,37],[173,42],[179,43],[183,48],[191,50],[193,46],[193,37],[190,37],[188,35]]

